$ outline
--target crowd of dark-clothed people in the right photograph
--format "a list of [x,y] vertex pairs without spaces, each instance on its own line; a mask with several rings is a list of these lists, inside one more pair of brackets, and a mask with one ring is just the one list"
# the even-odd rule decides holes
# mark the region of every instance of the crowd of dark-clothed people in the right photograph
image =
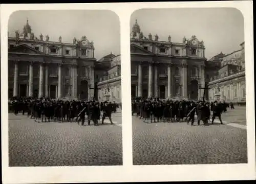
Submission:
[[[207,101],[187,101],[187,100],[161,100],[161,99],[132,99],[132,116],[143,119],[145,123],[156,122],[187,122],[194,125],[195,115],[197,116],[197,124],[200,121],[203,125],[209,125],[211,111],[211,123],[218,117],[220,123],[223,124],[221,113],[227,111],[227,104],[223,102],[207,102]],[[230,108],[234,109],[233,103]]]

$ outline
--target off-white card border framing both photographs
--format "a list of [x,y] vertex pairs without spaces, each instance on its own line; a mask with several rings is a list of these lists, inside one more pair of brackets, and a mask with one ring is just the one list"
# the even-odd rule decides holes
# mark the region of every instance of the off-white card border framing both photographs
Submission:
[[[247,164],[133,166],[130,18],[148,8],[237,8],[244,16],[246,66]],[[255,179],[255,117],[252,1],[158,2],[100,4],[2,4],[1,98],[3,183],[68,183],[127,181],[208,181]],[[121,36],[123,166],[9,167],[8,162],[8,20],[18,10],[112,10],[119,16]],[[250,61],[250,62],[249,62]],[[123,69],[125,68],[125,70]],[[192,172],[191,172],[192,171]],[[193,172],[195,171],[195,172]]]

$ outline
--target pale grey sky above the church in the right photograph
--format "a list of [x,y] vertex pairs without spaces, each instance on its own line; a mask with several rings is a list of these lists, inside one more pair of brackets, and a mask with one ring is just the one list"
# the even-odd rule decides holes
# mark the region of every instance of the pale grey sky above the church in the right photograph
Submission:
[[196,35],[205,44],[205,57],[240,49],[244,41],[244,18],[233,8],[143,9],[132,14],[131,27],[138,19],[143,34],[158,34],[160,41],[182,42]]

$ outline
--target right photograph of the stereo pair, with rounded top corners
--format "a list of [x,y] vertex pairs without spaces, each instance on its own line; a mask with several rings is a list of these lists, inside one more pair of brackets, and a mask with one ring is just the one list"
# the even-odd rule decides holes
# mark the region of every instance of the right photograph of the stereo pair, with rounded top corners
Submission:
[[242,13],[140,9],[130,28],[133,164],[247,163]]

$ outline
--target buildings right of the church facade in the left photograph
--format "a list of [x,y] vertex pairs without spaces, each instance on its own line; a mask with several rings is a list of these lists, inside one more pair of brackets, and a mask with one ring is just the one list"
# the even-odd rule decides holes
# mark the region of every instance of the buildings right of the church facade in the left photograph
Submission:
[[111,53],[97,63],[105,66],[105,72],[99,70],[98,73],[98,100],[121,103],[121,56]]

